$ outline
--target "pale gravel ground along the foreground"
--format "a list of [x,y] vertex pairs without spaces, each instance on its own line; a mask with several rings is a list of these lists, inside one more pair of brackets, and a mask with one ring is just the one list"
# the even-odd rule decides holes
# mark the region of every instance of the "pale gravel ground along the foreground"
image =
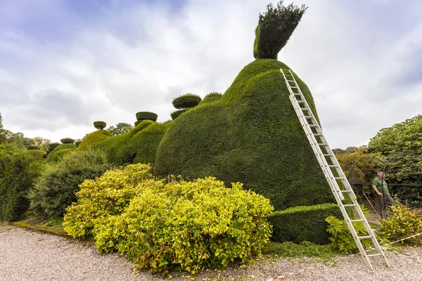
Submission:
[[[359,256],[330,263],[315,259],[261,259],[255,265],[208,270],[200,275],[173,273],[172,280],[268,280],[295,270],[284,280],[422,280],[422,248],[388,251],[392,268],[371,259],[369,272]],[[75,240],[0,224],[0,280],[169,280],[148,272],[134,274],[132,263],[119,254],[100,254]],[[194,279],[193,279],[194,278]]]

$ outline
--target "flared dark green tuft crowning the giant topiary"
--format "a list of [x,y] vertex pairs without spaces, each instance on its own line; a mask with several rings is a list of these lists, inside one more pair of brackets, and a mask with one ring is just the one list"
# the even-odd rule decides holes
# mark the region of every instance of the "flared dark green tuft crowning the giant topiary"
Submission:
[[253,56],[255,58],[277,59],[281,48],[287,44],[288,39],[298,26],[307,7],[290,4],[283,5],[283,0],[274,7],[267,5],[267,11],[260,14],[260,20],[255,30],[255,43]]

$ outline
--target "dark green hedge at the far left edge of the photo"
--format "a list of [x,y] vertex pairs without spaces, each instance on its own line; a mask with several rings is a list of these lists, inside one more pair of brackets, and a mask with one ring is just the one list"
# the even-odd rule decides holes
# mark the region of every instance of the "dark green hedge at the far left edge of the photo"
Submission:
[[0,221],[23,218],[30,204],[27,191],[38,176],[39,168],[40,162],[27,150],[10,145],[0,147]]

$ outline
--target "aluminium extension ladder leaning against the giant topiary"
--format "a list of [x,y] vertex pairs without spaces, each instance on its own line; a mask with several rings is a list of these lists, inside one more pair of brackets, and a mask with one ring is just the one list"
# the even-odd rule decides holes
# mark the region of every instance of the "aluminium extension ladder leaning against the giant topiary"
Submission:
[[[369,261],[369,258],[372,256],[381,256],[385,265],[390,267],[390,264],[388,263],[387,259],[385,259],[383,250],[378,244],[378,241],[376,240],[376,237],[373,234],[373,231],[369,226],[368,221],[366,221],[366,218],[357,202],[357,198],[354,195],[354,192],[350,187],[350,184],[347,181],[347,178],[345,177],[345,174],[343,173],[340,164],[338,164],[337,159],[335,159],[333,151],[328,146],[326,138],[322,133],[321,127],[319,126],[318,122],[316,122],[314,114],[309,108],[305,96],[303,96],[295,77],[293,77],[293,74],[290,70],[288,70],[288,72],[284,72],[281,69],[280,71],[283,74],[284,80],[286,81],[286,85],[290,93],[289,98],[293,105],[293,108],[295,109],[296,115],[298,115],[300,124],[302,124],[302,128],[305,131],[307,139],[312,147],[312,150],[314,150],[316,159],[318,159],[319,166],[321,166],[321,169],[324,172],[324,176],[328,181],[328,185],[330,185],[335,200],[337,201],[337,204],[340,207],[345,221],[347,222],[347,226],[349,226],[350,232],[352,233],[352,236],[354,238],[354,242],[356,242],[357,247],[359,248],[360,254],[365,261],[366,267],[369,270],[373,270],[371,266],[371,261]],[[293,89],[295,91],[293,91]],[[338,181],[340,181],[340,184],[338,183]],[[350,197],[352,204],[343,204],[343,200],[345,200],[345,195]],[[350,200],[346,200],[346,202]],[[347,214],[346,207],[354,208],[357,211],[359,218],[350,219],[349,214]],[[364,223],[368,235],[357,236],[353,223],[358,221]],[[366,251],[361,243],[361,240],[363,239],[371,239],[378,253],[366,254]]]

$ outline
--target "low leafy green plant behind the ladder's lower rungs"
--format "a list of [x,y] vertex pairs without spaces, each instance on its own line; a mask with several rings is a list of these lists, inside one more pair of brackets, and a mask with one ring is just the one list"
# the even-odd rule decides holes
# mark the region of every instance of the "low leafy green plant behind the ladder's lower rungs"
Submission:
[[[345,220],[340,220],[335,216],[328,216],[328,218],[326,218],[326,222],[328,223],[327,231],[331,234],[329,239],[331,240],[331,245],[334,249],[344,251],[346,254],[359,252],[357,244],[354,242],[352,233],[350,233],[349,227],[347,226]],[[357,236],[368,235],[362,221],[353,223],[353,226],[354,230],[356,230]],[[370,239],[363,239],[361,240],[361,243],[364,249],[369,249],[373,246]]]

